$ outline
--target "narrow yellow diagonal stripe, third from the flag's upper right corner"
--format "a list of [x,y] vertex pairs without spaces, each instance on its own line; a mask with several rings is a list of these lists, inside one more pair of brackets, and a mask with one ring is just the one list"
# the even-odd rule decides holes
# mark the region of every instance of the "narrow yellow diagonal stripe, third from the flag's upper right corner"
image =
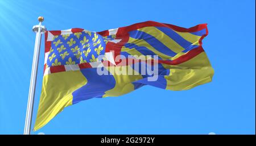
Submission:
[[161,57],[163,60],[171,60],[171,56],[165,55],[164,53],[161,53],[157,51],[154,47],[152,47],[150,44],[147,43],[147,41],[144,41],[143,39],[134,39],[133,37],[130,37],[127,43],[134,43],[140,47],[147,47],[152,52],[154,52],[156,55]]

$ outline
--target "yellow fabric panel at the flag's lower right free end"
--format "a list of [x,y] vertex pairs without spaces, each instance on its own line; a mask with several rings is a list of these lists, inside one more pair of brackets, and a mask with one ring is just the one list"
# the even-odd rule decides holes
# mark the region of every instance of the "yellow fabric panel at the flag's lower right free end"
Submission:
[[192,87],[212,81],[214,70],[205,52],[179,65],[165,65],[170,68],[167,80],[168,90],[188,90]]

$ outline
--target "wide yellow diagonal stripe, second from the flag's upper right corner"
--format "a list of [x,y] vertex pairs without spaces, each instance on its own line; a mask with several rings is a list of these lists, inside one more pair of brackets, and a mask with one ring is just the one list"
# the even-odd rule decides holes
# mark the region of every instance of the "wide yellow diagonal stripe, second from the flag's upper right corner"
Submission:
[[156,39],[158,39],[161,43],[166,45],[166,47],[168,47],[175,53],[179,53],[184,50],[184,48],[181,47],[178,43],[176,43],[176,41],[172,40],[171,37],[164,34],[162,31],[158,30],[158,28],[143,27],[143,28],[138,29],[138,31],[143,31],[143,32],[146,32],[147,34],[154,36]]

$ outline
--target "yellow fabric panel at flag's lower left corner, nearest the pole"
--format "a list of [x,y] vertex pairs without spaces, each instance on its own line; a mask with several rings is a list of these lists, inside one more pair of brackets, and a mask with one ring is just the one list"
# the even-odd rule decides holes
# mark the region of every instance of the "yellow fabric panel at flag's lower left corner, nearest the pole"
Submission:
[[42,93],[34,131],[39,130],[64,107],[72,105],[72,93],[87,83],[80,70],[48,74],[43,77]]

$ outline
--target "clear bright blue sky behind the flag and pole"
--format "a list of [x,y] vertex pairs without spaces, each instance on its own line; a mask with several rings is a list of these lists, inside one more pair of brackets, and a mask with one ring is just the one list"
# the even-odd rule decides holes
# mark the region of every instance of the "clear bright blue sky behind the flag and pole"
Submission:
[[[0,134],[23,134],[35,34],[103,31],[154,20],[208,23],[213,81],[187,91],[144,86],[65,108],[38,134],[255,134],[255,1],[0,1]],[[44,42],[44,39],[43,41]],[[33,125],[43,78],[42,43]]]

